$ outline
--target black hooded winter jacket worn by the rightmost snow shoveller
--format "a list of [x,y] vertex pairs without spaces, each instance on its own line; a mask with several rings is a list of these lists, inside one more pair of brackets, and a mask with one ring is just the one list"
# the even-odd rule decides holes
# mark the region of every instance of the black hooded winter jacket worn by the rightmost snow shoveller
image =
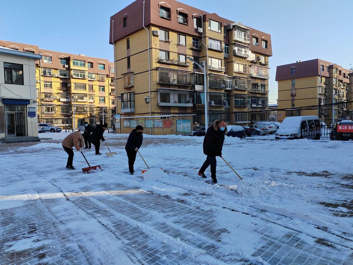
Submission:
[[213,125],[206,131],[203,140],[203,153],[212,156],[222,155],[224,137],[227,134],[227,131],[227,128],[225,128],[224,131],[221,131],[220,128],[218,128],[218,120],[215,120]]

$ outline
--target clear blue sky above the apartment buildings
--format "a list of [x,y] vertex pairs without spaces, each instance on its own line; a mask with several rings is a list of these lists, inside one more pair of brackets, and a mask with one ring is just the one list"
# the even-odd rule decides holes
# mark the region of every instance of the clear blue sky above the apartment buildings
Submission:
[[[113,61],[109,18],[128,1],[2,1],[0,39]],[[182,0],[271,34],[269,103],[276,103],[276,66],[320,58],[353,64],[353,1]]]

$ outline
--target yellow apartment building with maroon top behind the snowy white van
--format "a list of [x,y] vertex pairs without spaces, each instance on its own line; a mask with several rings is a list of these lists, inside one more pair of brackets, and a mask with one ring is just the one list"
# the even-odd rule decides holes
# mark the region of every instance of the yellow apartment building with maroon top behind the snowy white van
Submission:
[[[330,125],[333,118],[335,121],[352,118],[352,104],[344,102],[352,100],[348,90],[350,72],[321,59],[277,66],[278,109],[287,109],[278,111],[278,121],[290,116],[315,115]],[[339,102],[342,104],[336,104]]]

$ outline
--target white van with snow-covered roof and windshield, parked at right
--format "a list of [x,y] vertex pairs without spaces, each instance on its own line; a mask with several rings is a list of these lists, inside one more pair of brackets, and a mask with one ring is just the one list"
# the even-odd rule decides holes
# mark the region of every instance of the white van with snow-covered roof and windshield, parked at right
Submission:
[[275,139],[314,139],[320,140],[321,124],[317,116],[287,117],[276,132]]

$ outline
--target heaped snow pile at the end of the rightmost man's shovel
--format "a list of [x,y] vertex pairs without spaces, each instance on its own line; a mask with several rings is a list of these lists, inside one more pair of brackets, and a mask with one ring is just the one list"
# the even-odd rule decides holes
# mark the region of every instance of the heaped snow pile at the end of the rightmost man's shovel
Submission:
[[263,177],[244,177],[238,182],[237,192],[240,195],[256,197],[263,194],[268,194],[270,189]]

